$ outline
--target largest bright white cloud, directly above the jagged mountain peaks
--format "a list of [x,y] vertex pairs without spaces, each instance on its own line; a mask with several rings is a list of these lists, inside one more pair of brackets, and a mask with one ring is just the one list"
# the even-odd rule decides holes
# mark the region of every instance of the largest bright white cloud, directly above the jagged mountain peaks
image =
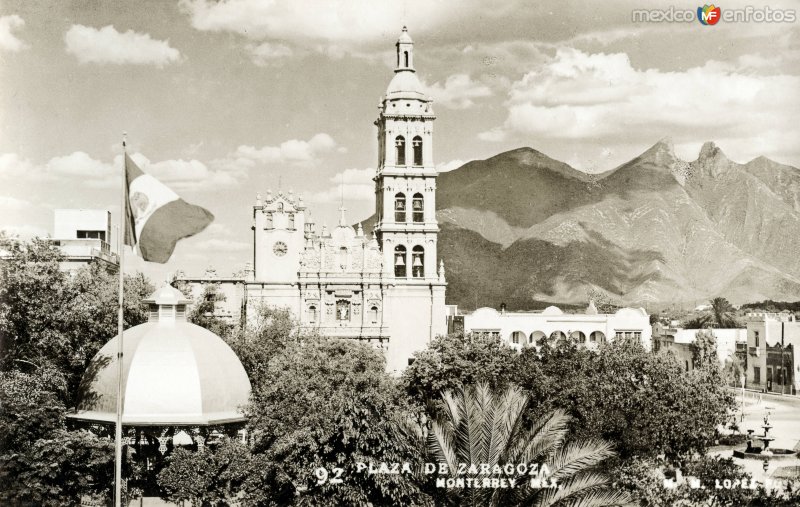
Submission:
[[[758,155],[752,139],[780,132],[800,136],[800,76],[756,76],[733,64],[665,72],[635,69],[627,54],[562,48],[513,83],[498,127],[483,140],[545,138],[648,144],[672,135],[748,140],[740,157]],[[794,151],[794,145],[783,150]]]

